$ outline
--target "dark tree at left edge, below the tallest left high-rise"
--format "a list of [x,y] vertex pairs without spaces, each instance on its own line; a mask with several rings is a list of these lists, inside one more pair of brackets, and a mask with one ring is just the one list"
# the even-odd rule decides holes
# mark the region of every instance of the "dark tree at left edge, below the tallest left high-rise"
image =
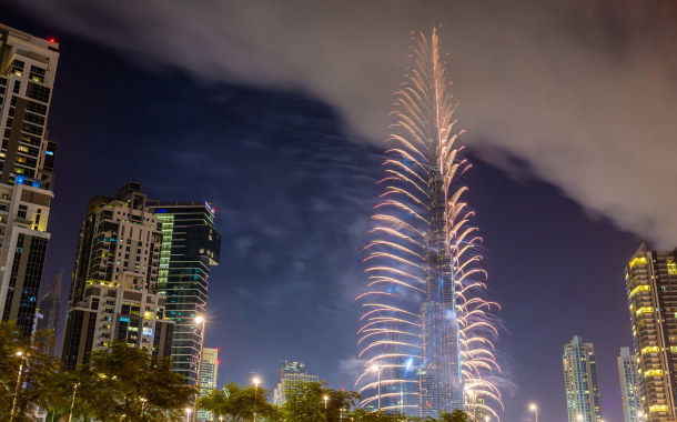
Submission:
[[53,345],[51,332],[24,336],[14,322],[0,322],[0,421],[32,422],[38,406],[48,409],[61,402],[61,364],[47,353],[49,345]]

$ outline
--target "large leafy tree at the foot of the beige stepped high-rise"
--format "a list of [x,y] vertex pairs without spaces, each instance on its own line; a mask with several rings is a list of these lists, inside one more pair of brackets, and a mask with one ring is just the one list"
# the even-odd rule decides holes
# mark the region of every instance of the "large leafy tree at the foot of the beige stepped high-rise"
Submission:
[[124,341],[113,342],[109,351],[92,352],[89,363],[63,374],[60,384],[68,393],[62,413],[70,411],[75,393],[73,416],[102,422],[182,421],[183,409],[199,391],[171,372],[169,360],[155,361]]

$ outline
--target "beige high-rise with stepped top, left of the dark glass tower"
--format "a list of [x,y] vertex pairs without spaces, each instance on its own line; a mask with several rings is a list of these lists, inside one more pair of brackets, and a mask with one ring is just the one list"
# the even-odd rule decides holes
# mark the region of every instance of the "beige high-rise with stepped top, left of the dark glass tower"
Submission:
[[145,204],[141,184],[89,200],[75,247],[61,360],[74,370],[89,352],[113,340],[171,354],[174,322],[158,294],[162,223]]

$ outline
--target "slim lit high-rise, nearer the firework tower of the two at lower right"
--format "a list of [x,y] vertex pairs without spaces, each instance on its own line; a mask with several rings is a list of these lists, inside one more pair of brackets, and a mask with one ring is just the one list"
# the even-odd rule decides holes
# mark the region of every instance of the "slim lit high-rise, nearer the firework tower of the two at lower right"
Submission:
[[599,422],[599,388],[593,343],[574,335],[564,345],[564,386],[569,422]]

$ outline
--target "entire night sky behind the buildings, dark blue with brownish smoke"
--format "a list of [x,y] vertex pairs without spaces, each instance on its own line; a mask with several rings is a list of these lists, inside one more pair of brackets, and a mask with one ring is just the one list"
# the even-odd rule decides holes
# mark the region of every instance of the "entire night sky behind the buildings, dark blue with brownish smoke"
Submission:
[[[208,17],[203,6],[186,12],[173,2],[155,3],[148,16],[142,11],[150,6],[137,13],[120,6],[118,13],[98,1],[58,1],[40,12],[31,1],[2,4],[2,23],[60,43],[49,118],[59,150],[44,277],[63,268],[64,283],[70,281],[78,227],[95,193],[111,194],[133,180],[149,198],[212,201],[223,240],[221,263],[210,274],[206,346],[219,348],[219,384],[255,371],[272,389],[279,362],[295,360],[331,388],[351,389],[361,368],[361,310],[353,299],[366,280],[362,248],[380,193],[374,182],[387,137],[382,123],[387,94],[406,66],[407,36],[412,29],[428,33],[439,19],[463,29],[476,27],[473,19],[484,14],[498,18],[467,6],[452,13],[449,4],[444,11],[453,17],[439,18],[431,2],[401,26],[404,2],[377,19],[370,4],[354,27],[344,26],[343,38],[332,38],[332,27],[323,26],[329,11],[319,14],[293,2],[293,13],[276,17],[275,6],[251,3],[242,2],[242,16],[261,19],[243,23],[235,22],[235,11],[218,19],[235,6],[214,6],[215,17]],[[677,167],[666,158],[676,157],[677,148],[677,56],[663,41],[674,31],[666,22],[677,14],[648,2],[628,29],[623,23],[634,10],[620,3],[608,16],[599,12],[609,3],[595,3],[562,28],[548,28],[527,2],[505,16],[513,29],[481,20],[467,38],[457,29],[445,33],[444,26],[441,33],[443,50],[453,44],[465,63],[449,69],[468,103],[464,111],[462,101],[458,114],[458,124],[468,129],[465,158],[474,164],[464,175],[465,199],[484,239],[488,298],[502,305],[496,345],[504,369],[503,421],[531,421],[531,403],[538,404],[542,420],[566,421],[562,353],[575,334],[595,345],[603,419],[623,420],[616,356],[633,345],[623,269],[643,239],[674,247],[677,225],[669,217],[677,205]],[[192,32],[172,21],[181,14],[194,20]],[[538,31],[521,32],[522,20],[532,19]],[[229,23],[245,30],[235,37]],[[477,32],[482,24],[491,27],[482,32],[486,39]],[[148,33],[139,31],[143,26]],[[275,32],[282,27],[287,31]],[[198,42],[213,28],[220,28],[212,31],[213,43],[223,40],[223,50]],[[326,36],[319,37],[321,54],[313,56],[317,46],[296,43],[317,43],[313,30]],[[397,38],[373,48],[381,30]],[[548,53],[534,62],[544,50],[529,50],[527,32],[563,58]],[[560,37],[565,32],[570,37]],[[195,43],[168,41],[183,36]],[[266,40],[269,49],[262,48]],[[572,40],[585,47],[564,49]],[[655,49],[643,50],[643,42]],[[471,46],[486,51],[467,53]],[[660,59],[664,52],[669,54]],[[355,61],[367,53],[381,68],[371,73],[363,63],[363,72],[355,71]],[[489,69],[487,57],[506,64],[505,72]],[[565,61],[570,67],[560,67]],[[524,67],[533,72],[519,73]],[[502,74],[501,82],[493,72]],[[577,81],[577,74],[587,79]],[[376,79],[387,94],[372,89]],[[473,96],[481,83],[488,88]],[[557,88],[540,89],[548,83]],[[518,91],[526,93],[504,98]],[[513,110],[526,101],[534,103]],[[649,184],[651,178],[657,184]]]

